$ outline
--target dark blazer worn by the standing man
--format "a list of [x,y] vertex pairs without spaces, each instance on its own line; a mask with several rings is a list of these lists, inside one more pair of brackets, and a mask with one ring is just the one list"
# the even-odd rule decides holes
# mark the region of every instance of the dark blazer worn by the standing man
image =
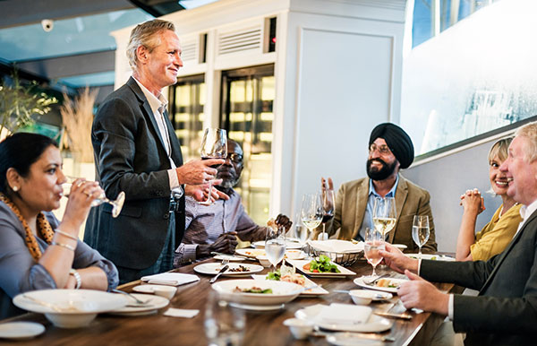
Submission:
[[[165,118],[172,159],[179,167],[181,146]],[[91,143],[97,179],[107,196],[115,198],[124,191],[126,198],[116,219],[109,204],[92,208],[84,241],[118,266],[145,269],[157,261],[166,242],[171,194],[166,170],[171,167],[149,101],[132,77],[98,109]],[[176,245],[183,238],[184,197],[179,209]]]

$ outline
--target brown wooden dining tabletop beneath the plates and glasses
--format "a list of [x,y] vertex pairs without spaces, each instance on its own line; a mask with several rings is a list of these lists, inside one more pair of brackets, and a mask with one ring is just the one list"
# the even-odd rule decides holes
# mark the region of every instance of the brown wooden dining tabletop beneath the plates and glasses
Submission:
[[[196,264],[190,264],[175,269],[175,272],[195,273],[193,268],[196,265],[214,262],[208,259]],[[327,345],[324,336],[311,335],[305,340],[296,340],[290,333],[288,327],[283,322],[287,318],[294,317],[294,313],[303,308],[315,304],[344,303],[353,304],[350,296],[345,293],[337,293],[334,290],[354,290],[359,287],[354,284],[354,278],[371,274],[371,265],[363,259],[358,260],[347,267],[356,275],[345,278],[311,278],[322,288],[328,290],[327,295],[317,297],[298,297],[286,303],[282,309],[274,311],[246,311],[245,329],[243,335],[243,345]],[[263,272],[268,272],[265,268]],[[386,266],[379,266],[377,273],[388,272],[396,274]],[[45,316],[36,313],[28,313],[16,316],[7,321],[32,321],[44,324],[45,333],[38,335],[34,339],[19,341],[17,345],[207,345],[208,339],[204,331],[204,316],[207,305],[207,298],[211,285],[210,275],[200,276],[200,281],[179,286],[175,297],[170,300],[168,307],[182,309],[198,309],[200,313],[193,318],[164,316],[168,307],[158,310],[158,313],[149,316],[113,316],[107,314],[99,315],[89,326],[78,329],[57,328],[47,321]],[[397,274],[400,275],[400,274]],[[219,280],[228,280],[229,277],[222,277]],[[120,288],[125,291],[132,291],[132,288],[141,284],[141,281],[132,281],[124,284]],[[462,289],[449,283],[435,283],[444,292],[460,292]],[[370,307],[373,310],[384,311],[388,307],[389,312],[404,312],[405,307],[396,295],[389,301],[373,302]],[[395,339],[395,342],[385,342],[387,345],[425,345],[430,344],[430,338],[435,333],[444,317],[427,312],[416,313],[407,311],[412,316],[411,320],[393,319],[392,327],[384,333],[371,333],[386,335]],[[12,344],[13,342],[0,339],[0,345]]]

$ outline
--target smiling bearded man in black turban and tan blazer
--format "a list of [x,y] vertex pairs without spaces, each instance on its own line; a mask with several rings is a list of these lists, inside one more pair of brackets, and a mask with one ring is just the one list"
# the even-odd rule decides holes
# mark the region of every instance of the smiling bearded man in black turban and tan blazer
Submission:
[[[334,219],[327,223],[328,234],[337,233],[339,239],[363,240],[365,229],[373,228],[373,207],[376,198],[394,197],[396,225],[388,232],[388,242],[403,244],[406,252],[417,252],[413,242],[414,215],[429,216],[430,237],[422,247],[425,253],[436,252],[434,223],[430,212],[430,195],[422,187],[399,174],[413,162],[413,143],[405,131],[394,124],[377,125],[371,131],[369,156],[366,163],[368,177],[347,182],[339,187]],[[332,179],[321,178],[322,188],[333,188]],[[319,231],[316,232],[317,234]]]

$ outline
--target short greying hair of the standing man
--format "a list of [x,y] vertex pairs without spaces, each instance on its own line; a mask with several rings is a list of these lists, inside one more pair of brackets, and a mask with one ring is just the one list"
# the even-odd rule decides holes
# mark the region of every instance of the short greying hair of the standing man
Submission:
[[132,70],[137,68],[136,49],[143,46],[148,48],[149,53],[152,52],[160,44],[160,37],[157,34],[162,30],[175,31],[175,25],[173,22],[154,19],[149,22],[142,22],[132,29],[129,45],[127,46],[127,58]]

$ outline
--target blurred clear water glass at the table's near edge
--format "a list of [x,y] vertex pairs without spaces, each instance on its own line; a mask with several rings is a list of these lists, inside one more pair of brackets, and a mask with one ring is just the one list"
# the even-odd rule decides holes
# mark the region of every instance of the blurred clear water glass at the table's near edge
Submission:
[[229,302],[211,290],[205,308],[205,335],[210,346],[241,345],[246,319],[244,310],[232,307]]

